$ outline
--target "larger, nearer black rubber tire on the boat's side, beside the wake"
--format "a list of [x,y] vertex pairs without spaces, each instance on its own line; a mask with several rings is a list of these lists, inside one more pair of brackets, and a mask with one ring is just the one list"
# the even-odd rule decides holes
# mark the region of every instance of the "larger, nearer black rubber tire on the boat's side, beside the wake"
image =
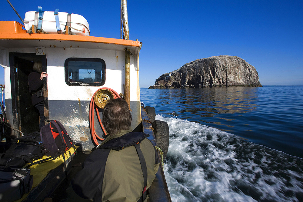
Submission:
[[152,123],[152,127],[154,128],[157,146],[162,150],[163,161],[165,161],[169,145],[168,124],[165,121],[155,120],[154,123]]

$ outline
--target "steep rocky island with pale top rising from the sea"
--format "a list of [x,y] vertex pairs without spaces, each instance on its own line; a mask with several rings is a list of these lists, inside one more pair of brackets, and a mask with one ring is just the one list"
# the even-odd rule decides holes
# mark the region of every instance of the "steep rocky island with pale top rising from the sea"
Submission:
[[198,59],[165,73],[149,88],[262,86],[256,68],[237,56]]

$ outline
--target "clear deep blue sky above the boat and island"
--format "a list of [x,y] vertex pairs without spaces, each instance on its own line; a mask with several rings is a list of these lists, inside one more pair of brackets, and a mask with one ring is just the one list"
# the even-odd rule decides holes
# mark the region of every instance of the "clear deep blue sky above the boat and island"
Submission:
[[[21,22],[1,0],[0,20]],[[120,38],[120,1],[10,0],[24,18],[42,10],[84,16],[91,36]],[[25,3],[27,2],[27,3]],[[140,87],[190,61],[235,55],[253,65],[262,85],[303,84],[303,1],[128,0],[130,39],[143,43]],[[0,69],[0,84],[4,70]]]

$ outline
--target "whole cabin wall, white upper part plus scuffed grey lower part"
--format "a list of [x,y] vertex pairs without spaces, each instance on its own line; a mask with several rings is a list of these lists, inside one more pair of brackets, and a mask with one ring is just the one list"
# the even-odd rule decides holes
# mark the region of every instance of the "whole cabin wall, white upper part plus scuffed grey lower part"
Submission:
[[[48,46],[49,47],[49,46]],[[11,98],[11,81],[9,68],[9,53],[35,53],[35,48],[8,48],[0,49],[2,54],[1,65],[5,69],[5,91],[6,99]],[[95,91],[102,87],[114,89],[117,93],[124,93],[125,84],[125,51],[104,50],[104,49],[85,49],[85,48],[56,48],[45,47],[47,62],[47,87],[48,87],[48,110],[49,118],[62,121],[72,138],[80,142],[84,150],[89,150],[92,146],[88,125],[88,108]],[[65,60],[67,58],[101,58],[105,61],[105,84],[102,86],[69,86],[65,83]],[[130,101],[133,122],[135,128],[141,122],[140,110],[140,89],[139,74],[136,69],[138,55],[131,56],[130,65]],[[66,101],[66,102],[62,102]],[[80,102],[81,101],[81,102]],[[83,101],[83,102],[82,102]],[[7,106],[9,119],[12,119],[11,105]],[[68,115],[68,116],[67,116]],[[95,122],[97,118],[95,117]],[[98,134],[98,123],[95,123]],[[101,129],[100,129],[101,130]]]

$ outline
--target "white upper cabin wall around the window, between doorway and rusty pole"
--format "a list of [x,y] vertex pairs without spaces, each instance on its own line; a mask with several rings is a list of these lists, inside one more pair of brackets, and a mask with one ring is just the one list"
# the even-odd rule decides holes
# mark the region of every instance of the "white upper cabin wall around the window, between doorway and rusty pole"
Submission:
[[[123,93],[125,83],[124,51],[46,48],[48,100],[90,100],[99,88],[108,87]],[[69,86],[65,83],[64,63],[67,58],[101,58],[105,61],[105,84],[102,86]],[[123,71],[122,71],[123,70]],[[64,92],[64,95],[58,94]]]

